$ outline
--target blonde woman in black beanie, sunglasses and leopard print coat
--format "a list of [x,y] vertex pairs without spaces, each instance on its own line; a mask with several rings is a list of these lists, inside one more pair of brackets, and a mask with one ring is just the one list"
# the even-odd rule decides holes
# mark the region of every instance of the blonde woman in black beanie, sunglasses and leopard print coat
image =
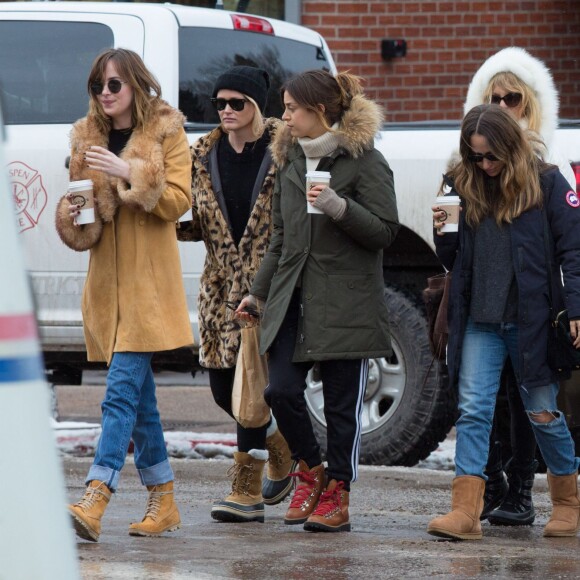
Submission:
[[[205,243],[199,356],[216,403],[232,417],[240,326],[231,306],[247,294],[272,231],[275,167],[269,144],[282,123],[262,117],[268,88],[268,74],[254,67],[233,67],[217,79],[212,102],[221,124],[192,148],[193,219],[178,229],[181,241]],[[264,521],[264,503],[279,503],[290,493],[294,463],[273,420],[259,428],[238,423],[237,435],[232,492],[214,504],[211,515],[220,521]]]

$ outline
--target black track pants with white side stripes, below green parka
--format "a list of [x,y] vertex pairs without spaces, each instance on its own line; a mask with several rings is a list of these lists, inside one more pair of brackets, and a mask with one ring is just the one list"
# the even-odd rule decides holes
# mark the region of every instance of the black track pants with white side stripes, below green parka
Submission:
[[[294,296],[269,353],[270,383],[264,393],[292,457],[309,467],[320,465],[304,391],[313,363],[293,363],[298,326],[298,296]],[[321,361],[320,376],[327,424],[327,476],[344,481],[349,488],[358,475],[361,414],[368,376],[368,360]]]

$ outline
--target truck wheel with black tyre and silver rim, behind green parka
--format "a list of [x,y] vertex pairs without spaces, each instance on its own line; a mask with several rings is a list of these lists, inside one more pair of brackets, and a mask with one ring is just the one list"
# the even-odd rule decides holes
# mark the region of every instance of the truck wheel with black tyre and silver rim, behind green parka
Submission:
[[[360,462],[412,466],[447,436],[457,418],[457,397],[449,389],[445,365],[433,360],[422,304],[388,287],[385,300],[393,354],[369,361]],[[316,365],[308,374],[306,403],[324,452],[324,400]]]

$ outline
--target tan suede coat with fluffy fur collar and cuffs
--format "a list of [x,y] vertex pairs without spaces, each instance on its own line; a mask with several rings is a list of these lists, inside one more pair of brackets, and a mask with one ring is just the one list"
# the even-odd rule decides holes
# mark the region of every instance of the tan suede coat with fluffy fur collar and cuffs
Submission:
[[88,116],[71,134],[70,179],[92,179],[96,222],[76,227],[63,197],[56,228],[76,251],[90,249],[82,312],[90,361],[114,352],[157,352],[193,344],[175,222],[191,206],[191,158],[183,115],[164,101],[152,121],[135,130],[120,157],[131,184],[86,167],[91,145],[108,135]]

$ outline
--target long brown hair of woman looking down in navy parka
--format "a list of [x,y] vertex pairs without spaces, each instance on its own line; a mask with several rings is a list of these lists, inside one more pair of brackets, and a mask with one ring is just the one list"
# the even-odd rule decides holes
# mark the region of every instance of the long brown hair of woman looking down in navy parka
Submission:
[[[487,195],[485,173],[469,160],[473,154],[471,137],[485,137],[493,153],[503,164],[498,176],[499,202],[492,204]],[[461,124],[459,153],[461,159],[451,169],[455,189],[465,199],[465,219],[477,225],[487,215],[510,223],[523,212],[542,205],[540,171],[547,165],[535,153],[532,141],[517,121],[498,105],[479,105],[465,115]]]

